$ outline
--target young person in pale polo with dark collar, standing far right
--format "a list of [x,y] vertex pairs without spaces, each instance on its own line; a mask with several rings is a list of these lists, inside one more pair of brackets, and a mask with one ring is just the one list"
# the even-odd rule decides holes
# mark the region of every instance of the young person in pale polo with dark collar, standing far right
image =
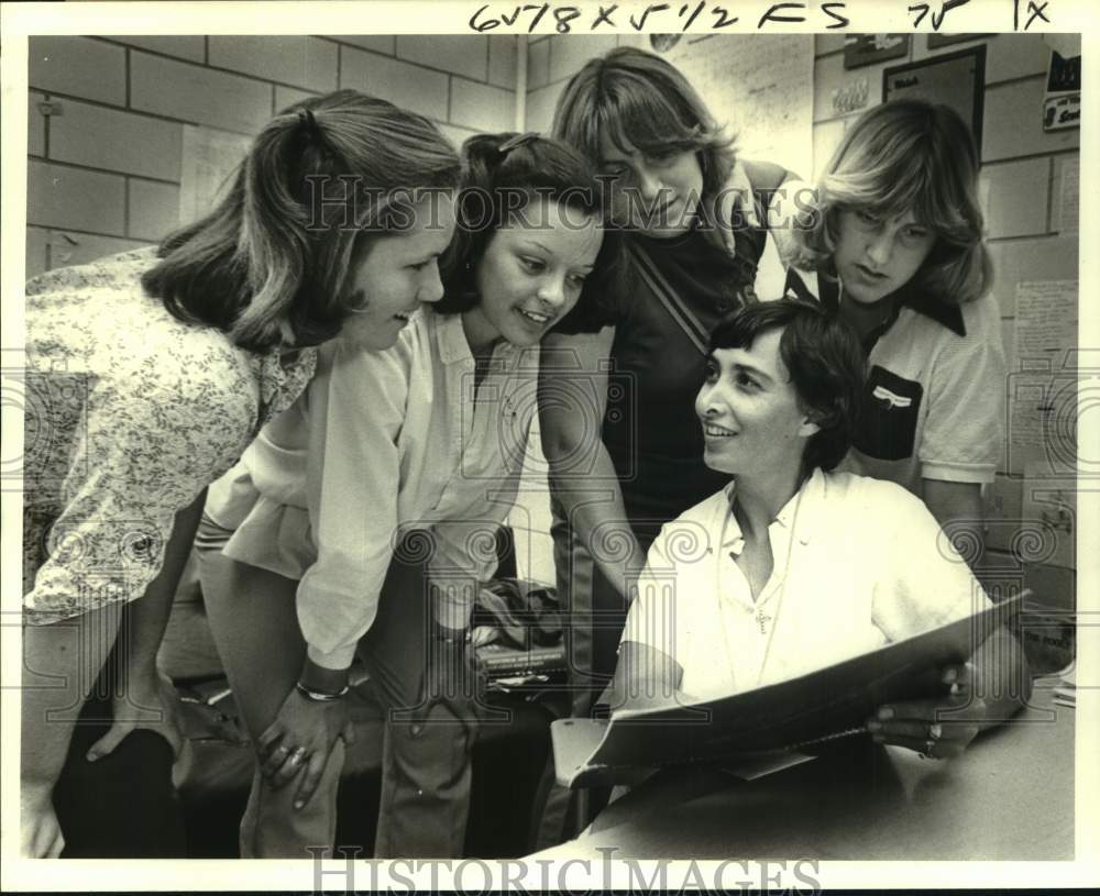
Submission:
[[922,498],[975,564],[1003,442],[1004,352],[978,151],[947,106],[883,103],[822,175],[791,273],[859,334],[869,369],[845,466]]

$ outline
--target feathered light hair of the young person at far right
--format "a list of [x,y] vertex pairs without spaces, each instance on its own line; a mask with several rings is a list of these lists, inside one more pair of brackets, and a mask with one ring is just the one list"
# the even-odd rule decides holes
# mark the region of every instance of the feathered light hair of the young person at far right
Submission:
[[970,129],[948,106],[892,100],[845,133],[817,185],[817,214],[795,229],[795,264],[832,265],[844,210],[882,218],[912,212],[936,243],[914,285],[945,303],[971,301],[992,285],[978,204],[978,151]]

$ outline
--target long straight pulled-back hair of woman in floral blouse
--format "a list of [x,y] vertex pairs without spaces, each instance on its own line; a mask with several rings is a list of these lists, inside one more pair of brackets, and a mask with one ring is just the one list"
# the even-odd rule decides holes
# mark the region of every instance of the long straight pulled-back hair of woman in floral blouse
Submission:
[[161,243],[142,284],[242,347],[315,345],[351,312],[349,272],[386,235],[392,198],[454,189],[460,172],[421,115],[354,90],[311,97],[260,132],[226,198]]

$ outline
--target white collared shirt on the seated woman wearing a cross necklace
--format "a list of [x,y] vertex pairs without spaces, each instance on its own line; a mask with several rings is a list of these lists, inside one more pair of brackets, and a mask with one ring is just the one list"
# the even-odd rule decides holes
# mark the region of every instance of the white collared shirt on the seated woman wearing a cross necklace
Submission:
[[735,488],[664,526],[623,635],[672,656],[692,697],[813,672],[989,604],[920,499],[820,469],[769,527],[773,569],[754,600],[732,556],[741,547]]

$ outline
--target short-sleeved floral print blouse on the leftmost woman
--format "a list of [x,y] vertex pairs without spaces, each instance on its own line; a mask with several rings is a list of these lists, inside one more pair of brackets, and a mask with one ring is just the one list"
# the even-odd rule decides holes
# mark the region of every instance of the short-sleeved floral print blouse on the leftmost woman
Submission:
[[314,374],[316,350],[258,355],[146,295],[152,248],[26,286],[23,617],[129,601],[161,569],[176,512]]

